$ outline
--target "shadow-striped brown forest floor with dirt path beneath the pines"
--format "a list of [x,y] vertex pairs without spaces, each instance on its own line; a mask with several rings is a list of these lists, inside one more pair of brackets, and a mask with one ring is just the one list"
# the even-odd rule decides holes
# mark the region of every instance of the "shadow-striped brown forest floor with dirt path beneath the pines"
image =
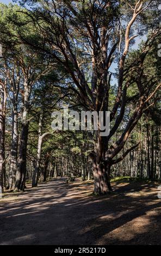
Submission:
[[93,182],[58,178],[11,194],[0,199],[0,245],[161,245],[158,185],[113,182],[96,197]]

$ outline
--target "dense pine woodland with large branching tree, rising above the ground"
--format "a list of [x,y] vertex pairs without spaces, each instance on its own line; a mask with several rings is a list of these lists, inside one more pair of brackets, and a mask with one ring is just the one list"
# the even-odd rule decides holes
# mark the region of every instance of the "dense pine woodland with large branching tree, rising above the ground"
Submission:
[[[16,2],[16,1],[15,1]],[[161,1],[0,4],[0,185],[161,179]],[[140,43],[137,43],[140,40]],[[110,111],[110,133],[52,131],[63,105]]]

